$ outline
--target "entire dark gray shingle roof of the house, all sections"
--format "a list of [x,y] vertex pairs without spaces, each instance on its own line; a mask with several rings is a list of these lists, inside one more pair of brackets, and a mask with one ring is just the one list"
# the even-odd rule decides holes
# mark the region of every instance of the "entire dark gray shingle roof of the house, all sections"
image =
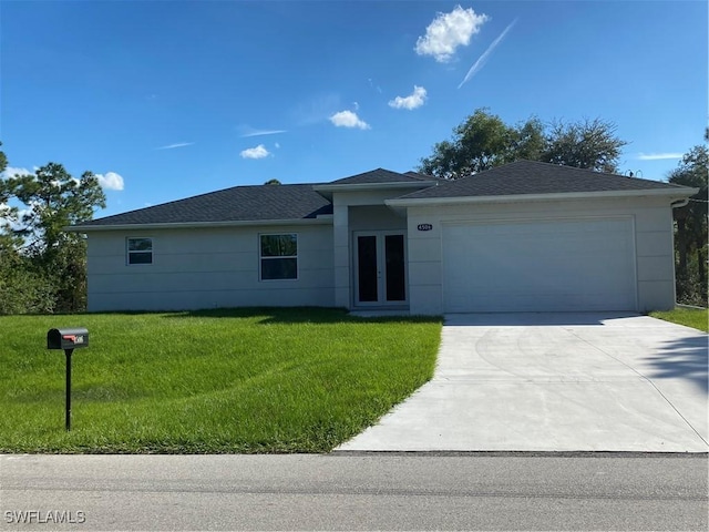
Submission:
[[[438,181],[438,186],[428,186],[421,191],[400,196],[400,198],[418,200],[650,190],[678,190],[678,192],[685,192],[688,190],[670,183],[603,174],[589,170],[533,161],[517,161],[456,181],[439,181],[415,172],[400,174],[389,170],[377,168],[329,184],[420,183],[425,186],[427,182],[431,181]],[[312,219],[319,215],[327,214],[332,214],[332,204],[317,193],[312,184],[235,186],[84,222],[74,227]]]

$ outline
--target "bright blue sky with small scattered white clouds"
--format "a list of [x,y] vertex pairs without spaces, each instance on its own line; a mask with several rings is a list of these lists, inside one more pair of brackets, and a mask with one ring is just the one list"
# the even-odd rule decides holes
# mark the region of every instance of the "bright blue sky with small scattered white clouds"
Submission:
[[662,180],[702,142],[705,1],[0,2],[14,168],[100,175],[104,216],[234,185],[404,172],[475,109],[600,117]]

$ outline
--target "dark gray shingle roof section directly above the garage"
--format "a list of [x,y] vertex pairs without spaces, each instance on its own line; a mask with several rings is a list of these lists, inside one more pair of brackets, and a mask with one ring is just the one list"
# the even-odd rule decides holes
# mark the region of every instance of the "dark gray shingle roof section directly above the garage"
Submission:
[[563,194],[584,192],[684,190],[659,181],[605,174],[535,161],[517,161],[461,180],[440,183],[407,194],[407,200],[466,196],[510,196],[518,194]]

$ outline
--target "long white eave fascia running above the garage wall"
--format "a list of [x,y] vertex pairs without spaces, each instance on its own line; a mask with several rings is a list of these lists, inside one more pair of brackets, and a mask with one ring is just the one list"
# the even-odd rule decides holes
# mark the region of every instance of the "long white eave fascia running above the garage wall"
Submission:
[[497,196],[453,196],[453,197],[412,197],[386,200],[391,207],[414,207],[425,205],[460,205],[481,203],[546,202],[554,200],[590,200],[623,197],[668,197],[670,201],[684,200],[699,192],[699,188],[651,188],[646,191],[599,191],[562,192],[546,194],[510,194]]

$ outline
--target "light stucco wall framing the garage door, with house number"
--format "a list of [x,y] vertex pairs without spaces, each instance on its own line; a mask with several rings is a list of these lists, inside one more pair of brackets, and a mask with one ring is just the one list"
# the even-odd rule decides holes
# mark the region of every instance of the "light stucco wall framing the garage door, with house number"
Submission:
[[[518,202],[408,207],[411,314],[443,313],[442,226],[453,222],[514,222],[630,216],[635,227],[637,308],[645,313],[675,305],[672,213],[667,198]],[[431,231],[418,231],[431,224]]]

